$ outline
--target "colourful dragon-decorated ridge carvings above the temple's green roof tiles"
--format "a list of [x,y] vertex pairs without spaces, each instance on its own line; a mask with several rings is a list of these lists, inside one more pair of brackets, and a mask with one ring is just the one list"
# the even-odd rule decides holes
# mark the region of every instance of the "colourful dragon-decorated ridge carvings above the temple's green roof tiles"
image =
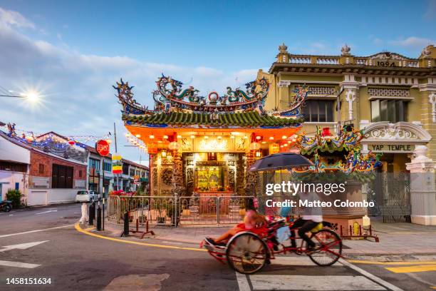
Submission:
[[[227,87],[227,93],[220,96],[219,93],[212,91],[207,98],[199,96],[198,90],[193,86],[182,88],[183,83],[169,76],[162,76],[156,81],[157,90],[153,91],[155,108],[150,110],[141,106],[133,97],[133,86],[120,79],[117,86],[113,86],[118,92],[115,96],[123,105],[123,113],[153,115],[155,113],[170,113],[192,111],[193,113],[237,113],[257,111],[259,114],[266,114],[264,104],[269,92],[269,81],[266,78],[258,78],[254,81],[245,83],[246,91],[239,88],[234,90]],[[306,87],[304,87],[306,88]],[[286,110],[283,116],[301,116],[299,107],[306,98],[306,91],[299,91],[303,95],[297,96],[290,104],[290,109]],[[291,113],[290,113],[291,112]]]

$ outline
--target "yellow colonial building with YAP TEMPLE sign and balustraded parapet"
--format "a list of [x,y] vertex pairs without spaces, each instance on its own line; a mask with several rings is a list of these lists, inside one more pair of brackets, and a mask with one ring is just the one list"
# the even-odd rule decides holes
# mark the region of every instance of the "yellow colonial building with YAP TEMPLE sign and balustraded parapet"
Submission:
[[436,47],[418,58],[380,52],[354,56],[343,46],[338,56],[292,54],[279,46],[269,72],[265,108],[284,111],[297,86],[308,86],[299,133],[313,136],[316,126],[337,133],[343,125],[363,129],[363,152],[383,153],[383,171],[402,172],[417,145],[436,160]]

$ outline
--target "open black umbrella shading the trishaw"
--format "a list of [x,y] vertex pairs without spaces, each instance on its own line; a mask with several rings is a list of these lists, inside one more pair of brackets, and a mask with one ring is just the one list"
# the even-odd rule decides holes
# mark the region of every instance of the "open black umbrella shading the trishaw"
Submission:
[[283,170],[289,168],[308,167],[313,163],[298,153],[274,153],[256,160],[249,171]]

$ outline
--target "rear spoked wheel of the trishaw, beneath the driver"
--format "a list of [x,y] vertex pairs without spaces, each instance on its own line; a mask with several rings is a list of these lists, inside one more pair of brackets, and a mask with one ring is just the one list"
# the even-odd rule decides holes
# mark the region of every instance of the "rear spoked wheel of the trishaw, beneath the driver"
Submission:
[[319,230],[317,233],[313,233],[312,241],[316,244],[316,250],[308,256],[316,265],[321,267],[330,266],[341,257],[342,240],[334,231]]

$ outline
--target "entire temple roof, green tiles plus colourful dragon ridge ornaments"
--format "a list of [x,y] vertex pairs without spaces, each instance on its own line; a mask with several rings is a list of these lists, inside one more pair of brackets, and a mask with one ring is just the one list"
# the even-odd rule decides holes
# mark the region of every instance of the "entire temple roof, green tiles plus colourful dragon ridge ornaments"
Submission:
[[153,91],[155,108],[141,106],[133,97],[128,82],[120,80],[116,96],[123,105],[123,121],[126,126],[148,128],[291,128],[303,123],[301,106],[308,94],[306,86],[295,88],[294,100],[281,112],[264,110],[269,91],[269,81],[259,78],[245,83],[246,90],[227,87],[227,93],[210,92],[200,96],[192,86],[183,89],[183,83],[162,75]]

